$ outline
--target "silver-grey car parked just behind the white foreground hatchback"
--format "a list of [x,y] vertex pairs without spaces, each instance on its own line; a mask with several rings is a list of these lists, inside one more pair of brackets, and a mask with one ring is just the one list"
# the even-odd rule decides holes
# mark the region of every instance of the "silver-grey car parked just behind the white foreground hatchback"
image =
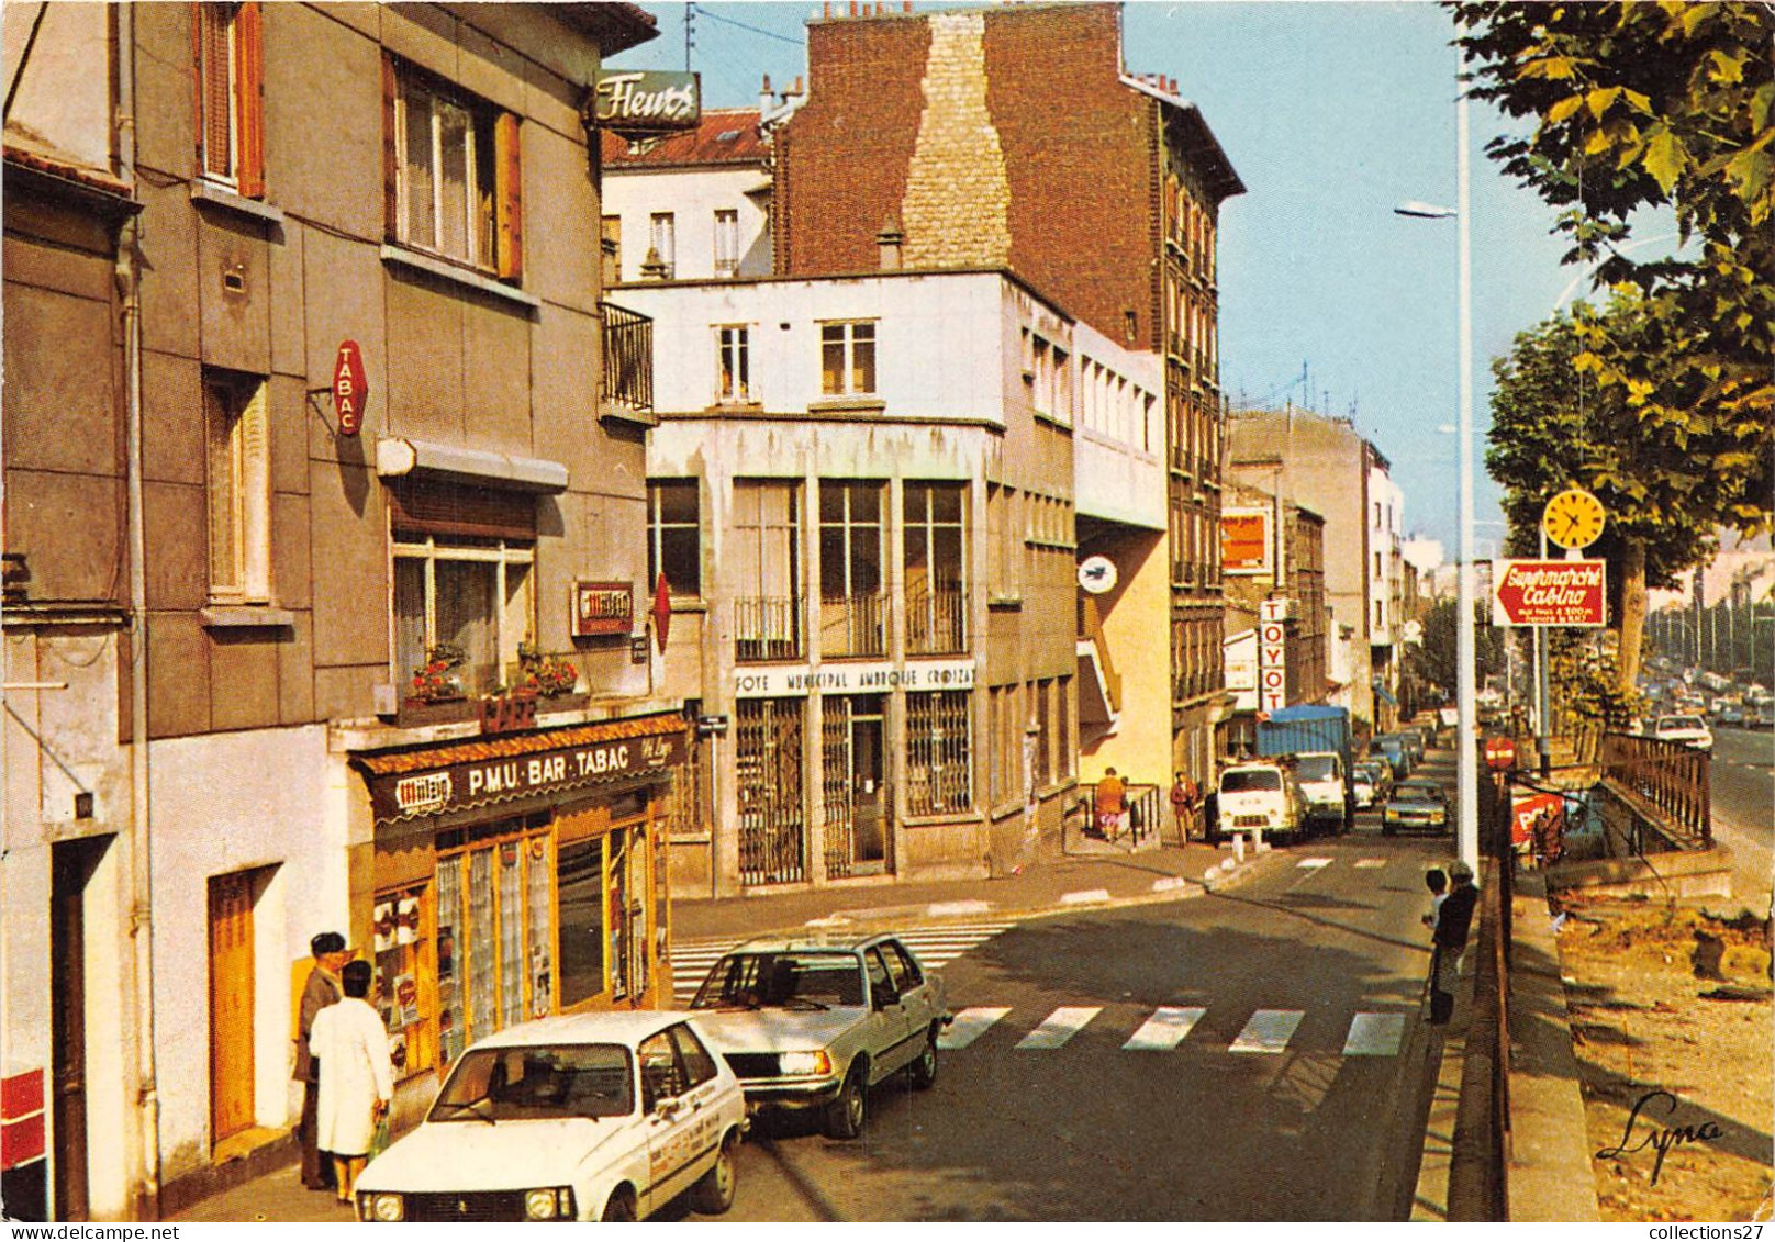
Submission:
[[863,1134],[884,1079],[935,1082],[937,1036],[953,1020],[943,978],[893,935],[747,940],[710,967],[690,1010],[749,1109],[818,1109],[834,1139]]

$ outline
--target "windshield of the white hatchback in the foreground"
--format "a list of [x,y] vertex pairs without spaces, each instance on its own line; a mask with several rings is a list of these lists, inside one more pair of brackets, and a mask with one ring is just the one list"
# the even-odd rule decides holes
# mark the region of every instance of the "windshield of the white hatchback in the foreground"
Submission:
[[470,1049],[428,1121],[618,1118],[635,1111],[634,1068],[621,1043]]

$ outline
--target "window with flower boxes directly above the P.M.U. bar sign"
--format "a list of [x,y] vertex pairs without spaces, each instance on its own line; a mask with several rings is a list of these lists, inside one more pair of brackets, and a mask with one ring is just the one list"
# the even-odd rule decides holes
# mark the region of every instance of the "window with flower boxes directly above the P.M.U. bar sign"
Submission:
[[456,660],[449,688],[493,694],[531,642],[534,545],[502,538],[394,532],[396,676],[438,655]]

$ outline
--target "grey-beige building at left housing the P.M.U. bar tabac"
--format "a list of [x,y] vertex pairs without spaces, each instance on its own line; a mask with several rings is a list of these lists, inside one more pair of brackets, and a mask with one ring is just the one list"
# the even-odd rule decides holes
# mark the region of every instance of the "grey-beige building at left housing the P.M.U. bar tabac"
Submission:
[[7,1203],[153,1217],[288,1146],[316,932],[408,1114],[469,1040],[669,987],[651,362],[586,108],[653,20],[5,21],[0,1121],[48,1153]]

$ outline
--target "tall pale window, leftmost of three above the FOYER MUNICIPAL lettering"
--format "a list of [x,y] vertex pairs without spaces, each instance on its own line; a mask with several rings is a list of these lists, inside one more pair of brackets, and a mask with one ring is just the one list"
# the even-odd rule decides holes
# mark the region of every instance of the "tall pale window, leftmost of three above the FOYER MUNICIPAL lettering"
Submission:
[[733,484],[735,658],[801,655],[801,507],[788,483]]

